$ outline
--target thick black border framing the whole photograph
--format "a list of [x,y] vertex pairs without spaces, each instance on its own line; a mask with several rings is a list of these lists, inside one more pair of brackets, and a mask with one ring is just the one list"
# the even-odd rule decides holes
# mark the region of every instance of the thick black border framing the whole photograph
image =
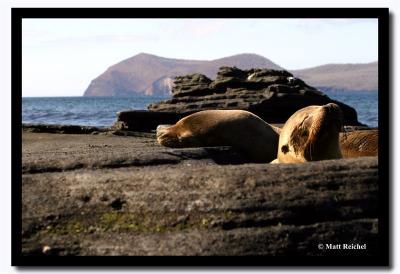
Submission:
[[[166,12],[168,9],[168,12]],[[13,266],[389,266],[388,8],[12,8]],[[95,257],[22,256],[22,19],[24,18],[376,18],[378,19],[379,244],[377,257]],[[237,269],[237,268],[235,268]]]

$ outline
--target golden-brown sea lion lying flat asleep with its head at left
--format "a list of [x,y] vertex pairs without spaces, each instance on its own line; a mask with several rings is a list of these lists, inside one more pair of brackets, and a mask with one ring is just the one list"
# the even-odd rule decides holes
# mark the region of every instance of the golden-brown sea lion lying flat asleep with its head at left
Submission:
[[244,110],[204,110],[172,126],[157,127],[157,141],[167,147],[232,146],[254,162],[276,158],[278,129]]

